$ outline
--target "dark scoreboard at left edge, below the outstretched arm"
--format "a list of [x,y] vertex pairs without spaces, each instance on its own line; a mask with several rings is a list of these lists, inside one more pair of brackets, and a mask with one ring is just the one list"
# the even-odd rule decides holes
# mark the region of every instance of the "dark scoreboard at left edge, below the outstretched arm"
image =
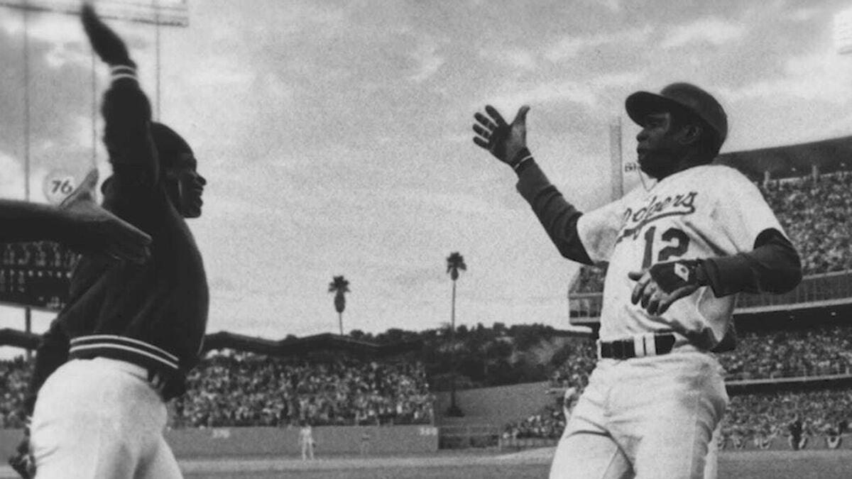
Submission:
[[0,303],[58,311],[80,255],[58,243],[0,243]]

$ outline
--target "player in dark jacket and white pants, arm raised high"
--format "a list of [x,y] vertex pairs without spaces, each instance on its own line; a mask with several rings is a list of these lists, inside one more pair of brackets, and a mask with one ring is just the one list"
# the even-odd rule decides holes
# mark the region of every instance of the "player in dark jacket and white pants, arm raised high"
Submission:
[[153,123],[124,42],[89,5],[83,27],[112,73],[103,205],[151,235],[151,258],[81,258],[37,352],[32,456],[38,479],[181,477],[163,431],[207,322],[204,265],[185,221],[200,216],[205,181],[187,142]]

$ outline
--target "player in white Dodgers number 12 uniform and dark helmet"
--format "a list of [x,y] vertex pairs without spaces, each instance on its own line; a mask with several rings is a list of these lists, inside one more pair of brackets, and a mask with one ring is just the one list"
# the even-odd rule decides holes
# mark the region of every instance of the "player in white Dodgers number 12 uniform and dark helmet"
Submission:
[[642,127],[638,164],[657,181],[582,214],[526,146],[521,107],[507,124],[476,113],[474,141],[517,172],[564,257],[609,263],[598,362],[556,449],[552,478],[701,478],[728,404],[722,341],[738,292],[790,291],[796,250],[769,205],[739,171],[714,165],[728,119],[710,94],[671,84],[637,92],[627,113]]

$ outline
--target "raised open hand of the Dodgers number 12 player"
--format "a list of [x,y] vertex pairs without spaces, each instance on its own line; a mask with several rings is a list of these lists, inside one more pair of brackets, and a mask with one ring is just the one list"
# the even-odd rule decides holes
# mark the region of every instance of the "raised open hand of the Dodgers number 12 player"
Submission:
[[526,105],[518,110],[512,124],[506,124],[503,116],[491,105],[486,105],[485,113],[475,113],[474,142],[485,148],[505,164],[514,166],[522,158],[516,158],[521,150],[527,148],[527,112]]

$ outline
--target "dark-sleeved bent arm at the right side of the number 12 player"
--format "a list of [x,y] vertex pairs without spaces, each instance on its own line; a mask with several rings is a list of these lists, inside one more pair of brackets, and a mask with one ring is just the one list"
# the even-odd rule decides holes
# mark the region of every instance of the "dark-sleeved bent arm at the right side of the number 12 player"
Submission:
[[704,282],[717,297],[738,292],[780,294],[791,291],[802,280],[802,263],[796,249],[774,229],[757,237],[753,251],[707,258],[702,268]]

